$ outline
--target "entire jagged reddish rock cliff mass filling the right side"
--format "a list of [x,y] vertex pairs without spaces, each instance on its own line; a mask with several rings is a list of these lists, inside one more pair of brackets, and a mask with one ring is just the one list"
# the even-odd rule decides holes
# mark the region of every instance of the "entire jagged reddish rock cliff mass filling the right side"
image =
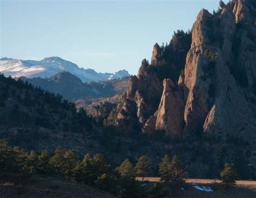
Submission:
[[[207,132],[224,137],[230,133],[254,142],[255,3],[220,3],[222,10],[214,15],[204,9],[199,12],[190,49],[181,56],[180,64],[167,58],[176,53],[168,47],[179,46],[180,40],[172,39],[166,48],[154,45],[151,65],[143,60],[138,75],[129,80],[117,110],[119,121],[134,124],[130,122],[132,112],[133,121],[144,133],[165,131],[172,138],[181,138],[184,133]],[[126,108],[129,103],[133,104],[131,112]]]

